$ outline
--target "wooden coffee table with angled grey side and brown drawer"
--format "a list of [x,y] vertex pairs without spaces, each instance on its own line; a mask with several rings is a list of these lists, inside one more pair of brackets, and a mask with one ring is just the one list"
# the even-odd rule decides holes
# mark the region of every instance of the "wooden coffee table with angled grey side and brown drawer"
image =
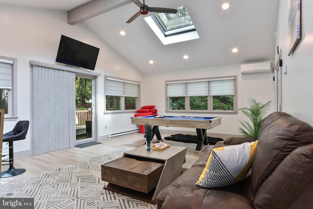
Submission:
[[141,146],[127,151],[101,165],[101,180],[109,182],[104,189],[156,204],[158,193],[179,177],[186,152],[186,147],[179,146],[151,152]]

